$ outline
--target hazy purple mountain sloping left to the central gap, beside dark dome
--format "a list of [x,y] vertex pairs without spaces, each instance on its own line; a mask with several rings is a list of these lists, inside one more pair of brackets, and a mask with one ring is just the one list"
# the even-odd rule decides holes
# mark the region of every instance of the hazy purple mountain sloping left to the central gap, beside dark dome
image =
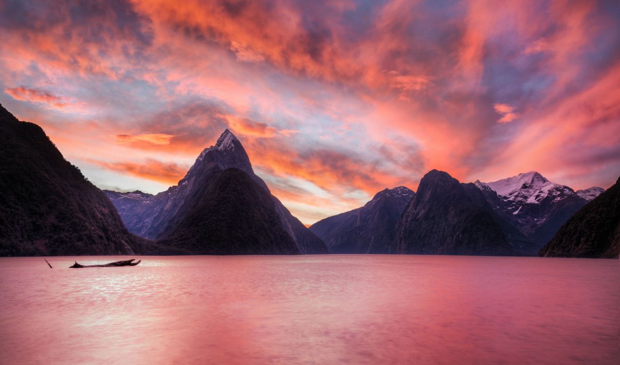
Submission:
[[363,207],[320,220],[310,230],[330,253],[394,253],[396,223],[414,195],[404,186],[384,189]]

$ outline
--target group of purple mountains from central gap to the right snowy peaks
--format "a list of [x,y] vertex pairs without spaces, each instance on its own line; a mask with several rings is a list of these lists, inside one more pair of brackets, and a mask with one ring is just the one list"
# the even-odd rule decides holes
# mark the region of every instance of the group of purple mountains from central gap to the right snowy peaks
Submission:
[[331,253],[535,256],[603,191],[575,192],[535,171],[461,183],[433,170],[417,193],[404,186],[385,189],[363,207],[327,217],[310,230]]

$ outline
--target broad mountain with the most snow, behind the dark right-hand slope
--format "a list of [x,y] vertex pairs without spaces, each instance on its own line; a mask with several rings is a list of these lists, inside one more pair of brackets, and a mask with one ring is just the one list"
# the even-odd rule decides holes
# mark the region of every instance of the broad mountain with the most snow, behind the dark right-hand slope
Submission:
[[539,248],[587,203],[570,187],[551,182],[535,171],[474,184],[499,217]]

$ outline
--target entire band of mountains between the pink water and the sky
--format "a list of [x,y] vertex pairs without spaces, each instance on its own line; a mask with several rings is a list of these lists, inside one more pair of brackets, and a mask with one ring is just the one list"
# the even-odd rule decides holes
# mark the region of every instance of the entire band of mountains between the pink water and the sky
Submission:
[[101,191],[42,128],[0,106],[0,255],[325,253],[618,258],[619,182],[574,191],[531,171],[379,191],[306,228],[228,129],[159,194]]

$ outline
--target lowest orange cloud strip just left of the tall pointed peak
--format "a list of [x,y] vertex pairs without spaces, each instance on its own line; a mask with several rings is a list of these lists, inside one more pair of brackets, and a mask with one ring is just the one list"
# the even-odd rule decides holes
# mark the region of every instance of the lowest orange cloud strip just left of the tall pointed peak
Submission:
[[176,163],[164,163],[153,159],[134,162],[107,162],[100,160],[87,159],[89,163],[96,164],[102,168],[115,171],[117,173],[128,174],[138,178],[164,182],[175,185],[187,173],[188,166],[180,166]]

